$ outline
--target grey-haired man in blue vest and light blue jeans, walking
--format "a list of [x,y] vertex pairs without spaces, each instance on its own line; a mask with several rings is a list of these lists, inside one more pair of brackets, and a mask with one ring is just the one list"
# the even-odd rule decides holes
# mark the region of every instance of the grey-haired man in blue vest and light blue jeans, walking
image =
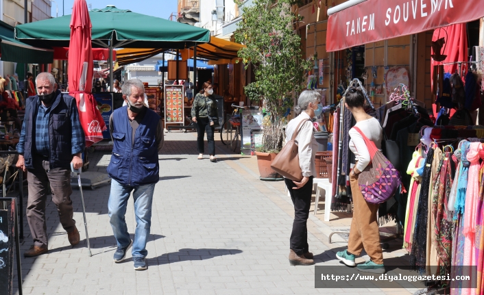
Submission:
[[[128,249],[133,246],[134,269],[145,270],[153,193],[160,180],[158,153],[163,147],[163,128],[160,116],[144,104],[142,81],[126,81],[122,93],[126,105],[115,110],[109,122],[114,145],[108,165],[112,179],[108,215],[118,246],[113,259],[116,263],[123,261]],[[134,242],[130,239],[124,218],[131,192],[136,216]]]

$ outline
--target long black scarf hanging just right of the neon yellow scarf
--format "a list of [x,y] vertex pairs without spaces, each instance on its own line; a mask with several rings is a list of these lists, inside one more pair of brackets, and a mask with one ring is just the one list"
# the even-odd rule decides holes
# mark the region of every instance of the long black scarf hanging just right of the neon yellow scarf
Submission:
[[422,188],[418,198],[417,220],[415,222],[415,232],[413,233],[413,243],[418,247],[411,248],[410,265],[413,270],[424,272],[426,267],[426,249],[427,249],[427,218],[428,218],[428,190],[431,185],[431,170],[433,162],[434,149],[427,153],[424,172],[422,174]]

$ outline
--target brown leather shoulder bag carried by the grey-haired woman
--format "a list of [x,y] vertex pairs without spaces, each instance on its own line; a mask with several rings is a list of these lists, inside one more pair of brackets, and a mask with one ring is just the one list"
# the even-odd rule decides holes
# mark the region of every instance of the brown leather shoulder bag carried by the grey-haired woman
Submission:
[[291,179],[293,181],[301,181],[302,171],[299,166],[299,156],[298,156],[298,144],[295,144],[295,138],[298,136],[300,131],[300,126],[302,123],[311,120],[302,120],[298,127],[296,127],[293,137],[286,145],[280,150],[278,155],[274,158],[271,164],[271,168],[278,172],[283,177]]

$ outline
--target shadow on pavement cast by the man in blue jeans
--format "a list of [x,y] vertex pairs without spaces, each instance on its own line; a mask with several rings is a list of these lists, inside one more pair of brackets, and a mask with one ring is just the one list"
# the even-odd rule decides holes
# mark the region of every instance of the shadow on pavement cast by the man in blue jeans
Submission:
[[163,264],[174,264],[180,261],[206,260],[223,255],[237,255],[240,253],[242,253],[242,251],[239,249],[184,248],[180,249],[178,252],[166,253],[158,257],[148,258],[147,261],[149,265],[160,266]]

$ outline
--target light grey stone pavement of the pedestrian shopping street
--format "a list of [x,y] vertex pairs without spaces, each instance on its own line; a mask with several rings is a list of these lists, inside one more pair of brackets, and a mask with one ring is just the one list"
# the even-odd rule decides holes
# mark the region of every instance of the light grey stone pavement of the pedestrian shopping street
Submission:
[[[109,185],[84,189],[93,252],[88,257],[80,192],[74,189],[74,218],[82,241],[74,248],[69,245],[49,201],[49,253],[22,259],[24,294],[403,295],[415,291],[315,289],[314,266],[289,266],[293,207],[283,183],[259,181],[255,157],[230,154],[220,142],[219,162],[214,164],[208,156],[197,159],[194,133],[165,134],[147,244],[149,269],[133,270],[131,253],[121,264],[112,261],[116,243],[108,219]],[[90,156],[90,171],[106,171],[110,151],[100,150]],[[318,216],[324,212],[324,204],[319,206]],[[133,233],[136,222],[131,201],[126,222]],[[32,244],[25,214],[24,224],[22,254]],[[335,252],[346,248],[344,238],[335,235],[335,242],[328,244],[331,229],[312,211],[308,231],[317,265],[341,267]],[[385,259],[399,256],[385,253]]]

